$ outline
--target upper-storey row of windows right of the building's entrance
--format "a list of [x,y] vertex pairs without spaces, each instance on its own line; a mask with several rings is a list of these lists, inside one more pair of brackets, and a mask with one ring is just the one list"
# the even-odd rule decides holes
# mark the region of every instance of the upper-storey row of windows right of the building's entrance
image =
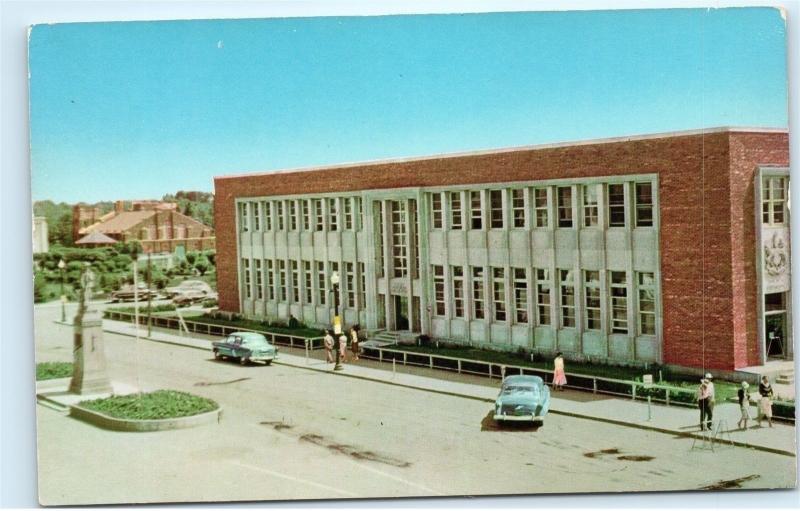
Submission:
[[[636,227],[653,225],[653,185],[650,182],[630,183],[633,189],[632,222]],[[531,191],[532,195],[528,194]],[[430,194],[431,227],[433,229],[483,229],[484,222],[491,229],[504,229],[506,225],[515,229],[550,228],[550,204],[556,201],[555,226],[575,227],[574,195],[581,198],[581,225],[599,227],[599,194],[605,191],[606,224],[609,227],[627,227],[626,204],[629,193],[625,183],[545,186],[536,188],[513,188],[436,192]],[[505,202],[510,202],[510,218],[504,214]],[[487,203],[487,204],[484,204]],[[529,204],[530,203],[530,204]],[[445,214],[447,206],[447,215]],[[488,208],[486,207],[488,205]],[[445,218],[446,217],[446,218]]]

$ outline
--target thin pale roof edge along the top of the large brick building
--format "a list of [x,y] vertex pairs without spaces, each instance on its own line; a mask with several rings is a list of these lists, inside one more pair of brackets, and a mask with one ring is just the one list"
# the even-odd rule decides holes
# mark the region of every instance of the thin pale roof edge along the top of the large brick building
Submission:
[[633,142],[638,140],[651,140],[657,138],[670,138],[670,137],[687,137],[687,136],[696,136],[696,135],[705,135],[711,133],[723,133],[723,132],[733,132],[733,133],[788,133],[788,128],[765,128],[765,127],[740,127],[740,126],[722,126],[716,128],[702,128],[702,129],[694,129],[694,130],[683,130],[683,131],[666,131],[662,133],[648,133],[645,135],[625,135],[619,137],[608,137],[608,138],[594,138],[594,139],[586,139],[586,140],[575,140],[575,141],[566,141],[566,142],[554,142],[554,143],[547,143],[547,144],[533,144],[533,145],[525,145],[525,146],[512,146],[512,147],[502,147],[498,149],[479,149],[475,151],[465,151],[465,152],[458,152],[458,153],[440,153],[440,154],[432,154],[432,155],[425,155],[425,156],[410,156],[410,157],[398,157],[398,158],[387,158],[381,160],[365,160],[359,162],[345,162],[345,163],[337,163],[331,165],[320,165],[314,167],[297,167],[297,168],[288,168],[288,169],[275,169],[275,170],[256,170],[252,172],[241,172],[237,174],[227,174],[222,176],[215,176],[214,180],[217,179],[235,179],[241,177],[251,177],[251,176],[263,176],[263,175],[274,175],[274,174],[289,174],[289,173],[296,173],[296,172],[313,172],[319,170],[331,170],[331,169],[343,169],[343,168],[352,168],[352,167],[362,167],[367,165],[384,165],[384,164],[391,164],[391,163],[406,163],[412,161],[424,161],[424,160],[439,160],[443,158],[460,158],[464,156],[479,156],[479,155],[486,155],[486,154],[502,154],[502,153],[510,153],[516,151],[535,151],[540,149],[555,149],[559,147],[575,147],[575,146],[583,146],[583,145],[596,145],[596,144],[616,144],[619,142]]

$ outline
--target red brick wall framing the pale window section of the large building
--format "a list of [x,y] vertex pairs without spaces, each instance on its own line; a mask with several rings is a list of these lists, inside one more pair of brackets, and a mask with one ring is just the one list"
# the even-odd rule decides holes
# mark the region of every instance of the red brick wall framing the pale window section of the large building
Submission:
[[237,197],[657,173],[664,362],[733,369],[757,353],[752,172],[787,161],[785,133],[715,132],[217,178],[220,307],[239,308]]

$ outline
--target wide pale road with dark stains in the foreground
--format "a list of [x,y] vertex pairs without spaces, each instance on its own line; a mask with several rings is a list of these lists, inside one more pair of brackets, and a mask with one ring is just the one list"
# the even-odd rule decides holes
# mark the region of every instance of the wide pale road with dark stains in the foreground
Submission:
[[[37,307],[37,361],[71,358]],[[117,433],[37,407],[43,504],[686,490],[794,485],[794,458],[559,415],[498,429],[485,402],[106,333],[112,380],[193,392],[219,424]],[[137,364],[138,358],[138,364]]]

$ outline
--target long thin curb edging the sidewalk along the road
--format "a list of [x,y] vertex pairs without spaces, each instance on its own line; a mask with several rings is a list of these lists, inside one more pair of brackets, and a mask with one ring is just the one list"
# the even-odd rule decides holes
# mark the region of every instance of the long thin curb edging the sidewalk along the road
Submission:
[[[114,330],[107,330],[107,331],[111,332],[111,333],[118,334],[118,335],[125,335],[125,336],[128,336],[128,337],[135,337],[135,335],[124,333],[124,332],[117,332],[117,331],[114,331]],[[173,342],[173,341],[164,341],[164,340],[159,340],[159,339],[153,339],[153,338],[150,338],[150,337],[140,337],[140,339],[144,339],[146,341],[151,341],[151,342],[159,342],[159,343],[162,343],[162,344],[171,344],[171,345],[174,345],[174,346],[183,346],[183,347],[186,347],[186,348],[194,348],[194,349],[199,349],[199,350],[206,349],[206,348],[201,348],[199,346],[192,346],[192,345],[189,345],[189,344],[181,344],[181,343],[177,343],[177,342]],[[309,371],[315,371],[315,372],[319,372],[319,373],[335,374],[337,376],[345,376],[347,378],[355,378],[355,379],[358,379],[358,380],[371,381],[371,382],[375,382],[375,383],[383,383],[385,385],[393,385],[395,387],[401,387],[401,388],[407,388],[407,389],[413,389],[413,390],[422,390],[422,391],[425,391],[425,392],[431,392],[431,393],[434,393],[434,394],[440,394],[440,395],[445,395],[445,396],[459,397],[459,398],[463,398],[463,399],[472,399],[474,401],[483,401],[483,402],[486,402],[486,403],[493,403],[494,402],[494,399],[483,398],[483,397],[478,397],[478,396],[472,396],[472,395],[469,395],[469,394],[462,394],[460,392],[453,392],[453,391],[447,391],[447,390],[437,390],[437,389],[431,389],[431,388],[426,388],[426,387],[419,387],[419,386],[416,386],[416,385],[409,385],[409,384],[406,384],[406,383],[393,382],[391,380],[373,378],[373,377],[369,377],[369,376],[362,376],[362,375],[356,375],[356,374],[334,372],[334,371],[332,371],[330,369],[318,369],[318,368],[309,367],[309,366],[302,365],[302,364],[293,364],[291,362],[286,362],[285,360],[282,361],[280,359],[276,359],[273,363],[276,364],[276,365],[284,365],[284,366],[288,366],[288,367],[295,367],[295,368],[298,368],[298,369],[306,369],[306,370],[309,370]],[[559,410],[555,410],[555,409],[552,409],[552,408],[550,409],[550,413],[553,413],[553,414],[556,414],[556,415],[563,415],[563,416],[566,416],[566,417],[574,417],[574,418],[577,418],[577,419],[605,422],[607,424],[614,424],[616,426],[625,426],[625,427],[629,427],[629,428],[636,428],[636,429],[642,429],[642,430],[646,430],[646,431],[653,431],[653,432],[656,432],[656,433],[662,433],[662,434],[666,434],[666,435],[673,435],[673,436],[677,436],[677,437],[681,437],[681,438],[694,438],[694,439],[700,439],[700,440],[703,439],[703,436],[700,435],[700,434],[697,434],[697,433],[675,431],[675,430],[672,430],[672,429],[659,428],[658,426],[651,426],[651,425],[641,424],[641,423],[636,423],[636,422],[626,422],[626,421],[621,421],[621,420],[617,420],[617,419],[610,419],[610,418],[605,418],[605,417],[597,417],[597,416],[594,416],[594,415],[581,414],[581,413],[577,413],[577,412],[559,411]],[[720,443],[721,444],[722,443],[730,444],[730,445],[734,445],[736,447],[743,447],[743,448],[747,448],[747,449],[755,449],[755,450],[758,450],[758,451],[768,452],[768,453],[772,453],[772,454],[780,454],[780,455],[783,455],[783,456],[796,457],[796,454],[794,452],[792,452],[792,451],[786,451],[786,450],[783,450],[783,449],[776,449],[776,448],[773,448],[773,447],[766,447],[766,446],[757,445],[757,444],[749,444],[747,442],[741,442],[741,441],[737,441],[737,440],[731,440],[729,442],[720,442]]]

